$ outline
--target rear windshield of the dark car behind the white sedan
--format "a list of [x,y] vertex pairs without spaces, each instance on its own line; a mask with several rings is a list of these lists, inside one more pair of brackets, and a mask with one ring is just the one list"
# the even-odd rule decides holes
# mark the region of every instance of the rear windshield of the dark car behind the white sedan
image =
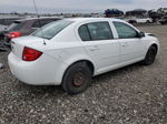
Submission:
[[7,29],[8,31],[17,31],[20,30],[23,25],[23,22],[21,21],[14,21],[12,24],[9,25],[9,28]]

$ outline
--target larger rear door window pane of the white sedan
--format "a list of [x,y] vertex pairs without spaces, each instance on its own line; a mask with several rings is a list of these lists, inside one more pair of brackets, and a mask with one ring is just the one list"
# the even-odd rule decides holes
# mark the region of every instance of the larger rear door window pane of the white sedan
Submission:
[[114,39],[108,22],[94,22],[87,24],[91,40],[110,40]]

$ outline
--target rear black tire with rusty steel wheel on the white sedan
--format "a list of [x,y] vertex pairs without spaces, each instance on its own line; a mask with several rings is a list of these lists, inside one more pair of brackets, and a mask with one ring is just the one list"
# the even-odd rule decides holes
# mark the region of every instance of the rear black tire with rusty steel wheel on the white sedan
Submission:
[[86,62],[71,65],[65,73],[62,89],[70,95],[86,91],[91,82],[92,72]]

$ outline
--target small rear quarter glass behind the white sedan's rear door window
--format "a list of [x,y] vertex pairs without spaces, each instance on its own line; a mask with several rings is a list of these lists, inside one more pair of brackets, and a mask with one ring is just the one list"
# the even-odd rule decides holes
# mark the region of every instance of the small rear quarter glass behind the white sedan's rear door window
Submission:
[[90,41],[90,35],[87,25],[81,25],[78,30],[79,35],[82,41]]

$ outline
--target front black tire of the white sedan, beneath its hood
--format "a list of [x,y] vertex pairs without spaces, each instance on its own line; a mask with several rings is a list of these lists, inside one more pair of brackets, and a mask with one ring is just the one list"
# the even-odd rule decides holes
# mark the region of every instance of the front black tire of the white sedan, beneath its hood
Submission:
[[151,45],[145,56],[145,60],[141,62],[141,64],[144,65],[153,64],[155,62],[156,55],[157,55],[157,49],[156,46]]

